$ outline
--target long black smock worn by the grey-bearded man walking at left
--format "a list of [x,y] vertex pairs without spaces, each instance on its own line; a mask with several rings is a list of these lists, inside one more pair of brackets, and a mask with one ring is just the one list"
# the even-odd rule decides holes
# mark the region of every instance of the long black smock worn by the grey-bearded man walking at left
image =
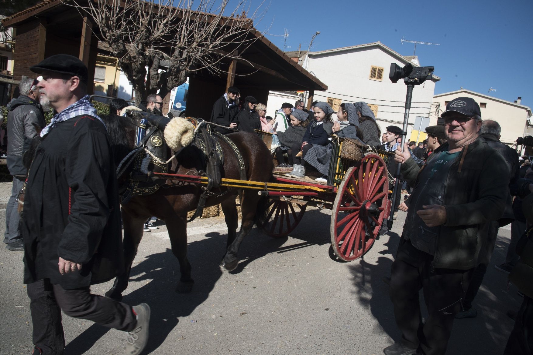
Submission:
[[[123,271],[120,206],[106,128],[92,116],[56,123],[30,166],[22,216],[24,282],[71,290]],[[58,260],[83,264],[59,273]]]

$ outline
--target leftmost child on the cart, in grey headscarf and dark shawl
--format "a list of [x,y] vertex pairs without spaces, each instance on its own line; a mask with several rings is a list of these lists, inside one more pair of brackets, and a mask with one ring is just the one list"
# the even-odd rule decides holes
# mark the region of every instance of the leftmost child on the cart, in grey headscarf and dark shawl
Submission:
[[[292,146],[301,146],[305,128],[309,124],[309,114],[301,109],[295,109],[290,113],[289,128],[285,132],[274,132],[278,136],[281,146],[276,148],[276,159],[278,159],[278,167],[292,167],[293,166],[293,148]],[[299,148],[298,148],[299,149]],[[299,150],[298,150],[299,151]],[[287,162],[285,163],[284,153],[287,153]],[[296,152],[298,153],[298,152]]]

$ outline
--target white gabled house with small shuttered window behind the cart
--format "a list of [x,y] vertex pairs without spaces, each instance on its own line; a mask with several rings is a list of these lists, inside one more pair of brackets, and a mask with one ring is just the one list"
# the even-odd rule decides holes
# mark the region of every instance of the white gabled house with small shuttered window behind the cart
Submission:
[[[390,65],[396,63],[403,67],[411,63],[418,66],[417,57],[403,57],[376,42],[309,54],[304,51],[295,61],[328,85],[328,91],[314,92],[314,100],[328,102],[335,111],[343,102],[364,101],[374,111],[382,131],[391,124],[402,126],[407,86],[402,80],[397,83],[389,80]],[[433,80],[414,88],[408,136],[416,116],[427,117],[435,110],[432,103],[438,80],[440,78],[434,75]],[[433,121],[430,124],[436,124],[436,118]]]

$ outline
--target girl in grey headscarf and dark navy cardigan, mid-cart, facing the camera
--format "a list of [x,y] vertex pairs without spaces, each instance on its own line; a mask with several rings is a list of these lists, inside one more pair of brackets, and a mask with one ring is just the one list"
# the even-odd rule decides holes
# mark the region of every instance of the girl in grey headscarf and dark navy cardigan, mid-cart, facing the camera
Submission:
[[[325,102],[319,102],[313,107],[314,122],[307,126],[307,130],[303,136],[303,142],[301,145],[297,143],[293,145],[293,171],[286,174],[287,176],[297,177],[298,179],[305,178],[305,166],[302,159],[308,155],[309,151],[313,149],[311,153],[311,159],[305,159],[306,162],[310,160],[317,160],[321,162],[321,158],[327,153],[327,146],[331,144],[329,141],[330,134],[333,133],[333,121],[331,119],[334,113],[331,106]],[[302,151],[302,155],[297,154]]]

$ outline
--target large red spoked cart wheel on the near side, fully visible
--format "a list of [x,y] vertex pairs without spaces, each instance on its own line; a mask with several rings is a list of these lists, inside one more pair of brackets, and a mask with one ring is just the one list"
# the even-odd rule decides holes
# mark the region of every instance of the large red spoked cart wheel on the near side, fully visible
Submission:
[[333,204],[331,237],[337,257],[344,261],[364,255],[387,214],[389,179],[385,162],[370,153],[359,167],[350,167]]

